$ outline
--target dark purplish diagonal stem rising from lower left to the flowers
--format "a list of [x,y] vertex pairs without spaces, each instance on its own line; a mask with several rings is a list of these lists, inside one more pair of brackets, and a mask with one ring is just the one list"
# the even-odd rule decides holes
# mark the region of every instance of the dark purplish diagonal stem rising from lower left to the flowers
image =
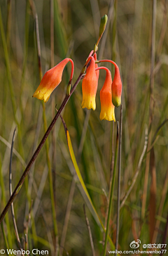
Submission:
[[64,101],[62,102],[62,105],[60,106],[58,112],[56,113],[54,119],[52,120],[52,122],[50,123],[50,126],[48,127],[47,131],[45,132],[43,139],[41,139],[41,142],[39,143],[38,147],[36,148],[36,151],[34,152],[34,155],[32,156],[31,160],[29,161],[25,172],[23,172],[22,177],[20,178],[20,181],[18,182],[17,186],[15,187],[15,190],[13,191],[12,196],[10,196],[8,203],[6,204],[6,207],[3,209],[3,212],[1,213],[0,216],[0,224],[3,220],[3,218],[6,215],[6,212],[8,211],[11,203],[13,203],[13,200],[15,199],[15,196],[18,195],[20,188],[22,187],[23,182],[25,181],[25,177],[27,177],[27,174],[29,172],[29,169],[31,168],[31,165],[33,165],[34,161],[36,160],[36,157],[38,155],[38,153],[41,151],[41,148],[43,147],[43,144],[45,143],[45,140],[48,138],[48,135],[50,134],[52,127],[54,126],[55,122],[57,121],[59,115],[62,113],[62,110],[64,109],[66,103],[69,101],[69,98],[71,97],[71,94],[73,94],[73,91],[76,89],[78,83],[80,82],[80,80],[83,78],[83,72],[80,72],[80,75],[78,77],[78,79],[76,80],[75,84],[73,85],[70,95],[66,95],[64,97]]

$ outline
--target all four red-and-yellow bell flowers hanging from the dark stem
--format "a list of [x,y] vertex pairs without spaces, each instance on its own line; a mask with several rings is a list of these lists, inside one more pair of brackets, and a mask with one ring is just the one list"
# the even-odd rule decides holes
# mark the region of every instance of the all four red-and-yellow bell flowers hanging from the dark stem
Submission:
[[[52,93],[52,91],[62,81],[62,72],[64,70],[65,65],[69,61],[71,62],[71,77],[69,80],[70,85],[74,69],[73,60],[71,60],[70,58],[65,58],[54,68],[51,68],[50,70],[48,70],[48,72],[45,73],[33,97],[36,97],[40,100],[43,100],[44,102],[47,102],[50,98],[50,94]],[[97,63],[102,62],[110,62],[113,63],[113,65],[115,65],[115,75],[113,77],[113,82],[111,78],[111,72],[109,71],[109,69],[105,67],[98,67]],[[122,82],[120,79],[120,71],[118,65],[116,65],[116,63],[114,63],[112,60],[98,61],[97,54],[94,53],[94,51],[91,51],[85,63],[85,67],[87,67],[87,70],[82,83],[82,108],[92,108],[93,110],[96,109],[96,94],[99,79],[99,70],[104,69],[106,70],[106,79],[100,91],[101,113],[99,117],[100,120],[116,121],[114,108],[115,106],[118,107],[120,105],[122,93]]]

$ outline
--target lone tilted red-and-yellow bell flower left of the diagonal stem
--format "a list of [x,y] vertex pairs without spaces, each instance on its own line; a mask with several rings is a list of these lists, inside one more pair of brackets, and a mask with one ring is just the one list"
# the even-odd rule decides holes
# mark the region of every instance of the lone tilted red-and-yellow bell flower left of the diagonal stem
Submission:
[[74,69],[73,60],[71,60],[71,58],[65,58],[60,63],[58,63],[54,68],[51,68],[50,70],[45,72],[45,75],[43,76],[40,85],[34,92],[33,97],[38,98],[41,101],[43,100],[44,102],[47,102],[50,98],[50,94],[52,93],[52,91],[62,81],[62,72],[69,61],[71,62],[71,77],[69,80],[69,84],[71,84]]

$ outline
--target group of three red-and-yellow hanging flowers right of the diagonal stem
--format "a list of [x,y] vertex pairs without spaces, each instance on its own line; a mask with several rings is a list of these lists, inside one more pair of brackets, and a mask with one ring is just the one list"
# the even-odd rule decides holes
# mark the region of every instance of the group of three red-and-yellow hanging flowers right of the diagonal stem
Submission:
[[[96,109],[96,93],[97,93],[97,84],[98,77],[96,72],[100,69],[106,70],[106,79],[104,82],[104,86],[100,91],[100,101],[101,101],[101,113],[100,120],[109,120],[116,121],[114,108],[118,107],[121,103],[121,93],[122,93],[122,82],[120,79],[120,71],[118,65],[114,63],[112,60],[99,60],[98,63],[101,62],[111,62],[115,65],[115,75],[113,78],[113,82],[111,79],[111,72],[108,68],[105,67],[96,67],[97,57],[94,53],[94,58],[89,56],[87,62],[90,62],[89,67],[86,70],[86,75],[83,79],[82,89],[83,89],[83,102],[82,108],[93,110]],[[92,55],[92,52],[90,53]]]

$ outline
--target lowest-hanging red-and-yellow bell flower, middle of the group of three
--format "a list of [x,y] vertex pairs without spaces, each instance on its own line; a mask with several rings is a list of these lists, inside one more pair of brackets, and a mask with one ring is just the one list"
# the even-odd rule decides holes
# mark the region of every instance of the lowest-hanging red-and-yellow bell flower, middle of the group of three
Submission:
[[100,91],[100,102],[101,102],[101,113],[99,115],[100,120],[116,121],[114,113],[114,105],[112,103],[112,92],[111,92],[111,72],[108,68],[99,67],[96,70],[106,70],[106,79],[104,86]]

